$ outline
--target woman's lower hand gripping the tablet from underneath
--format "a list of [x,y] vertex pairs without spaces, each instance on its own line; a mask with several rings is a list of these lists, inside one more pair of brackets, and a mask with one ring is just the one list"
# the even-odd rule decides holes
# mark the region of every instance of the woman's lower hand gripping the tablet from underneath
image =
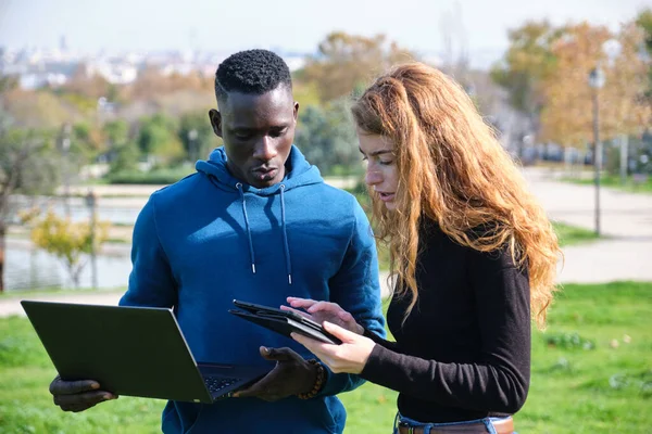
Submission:
[[325,321],[323,326],[327,332],[339,337],[342,343],[340,345],[324,344],[299,333],[292,333],[291,336],[317,356],[333,372],[362,372],[376,343],[328,321]]

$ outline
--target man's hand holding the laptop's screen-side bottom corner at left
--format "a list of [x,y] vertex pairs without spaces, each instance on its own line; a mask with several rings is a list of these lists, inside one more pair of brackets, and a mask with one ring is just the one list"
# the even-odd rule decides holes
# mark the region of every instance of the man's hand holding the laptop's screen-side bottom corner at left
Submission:
[[59,375],[50,383],[54,404],[63,411],[84,411],[102,401],[117,399],[117,395],[99,388],[100,383],[93,380],[63,381]]

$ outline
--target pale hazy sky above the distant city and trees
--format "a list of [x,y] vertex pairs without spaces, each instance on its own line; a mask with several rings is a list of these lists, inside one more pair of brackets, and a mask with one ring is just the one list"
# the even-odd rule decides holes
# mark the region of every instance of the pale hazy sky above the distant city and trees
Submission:
[[266,48],[313,53],[333,30],[440,54],[444,34],[484,67],[526,20],[588,21],[616,29],[652,0],[0,0],[0,46],[83,52]]

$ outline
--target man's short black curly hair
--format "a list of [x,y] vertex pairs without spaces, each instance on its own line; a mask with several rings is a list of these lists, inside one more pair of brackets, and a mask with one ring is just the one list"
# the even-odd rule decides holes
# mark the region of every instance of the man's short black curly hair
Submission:
[[226,101],[228,92],[263,94],[285,85],[292,89],[290,68],[267,50],[247,50],[231,54],[215,73],[215,97]]

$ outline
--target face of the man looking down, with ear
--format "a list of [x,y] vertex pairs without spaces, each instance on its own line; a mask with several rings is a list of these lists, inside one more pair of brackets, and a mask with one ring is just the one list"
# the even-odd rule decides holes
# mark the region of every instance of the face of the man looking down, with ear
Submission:
[[211,124],[224,141],[231,175],[259,189],[280,182],[298,111],[291,90],[283,85],[261,95],[229,92],[220,112],[211,110]]

